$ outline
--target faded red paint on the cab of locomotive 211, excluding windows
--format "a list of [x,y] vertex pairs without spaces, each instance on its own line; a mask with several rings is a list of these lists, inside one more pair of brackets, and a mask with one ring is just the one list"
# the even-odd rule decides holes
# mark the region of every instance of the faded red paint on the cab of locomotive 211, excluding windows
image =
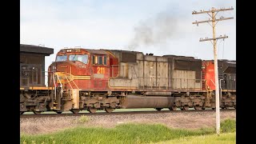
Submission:
[[[82,90],[107,90],[109,89],[110,77],[116,77],[118,75],[118,58],[115,58],[114,54],[111,54],[107,50],[86,50],[86,49],[69,49],[71,52],[60,50],[58,55],[67,55],[67,60],[63,62],[54,62],[50,65],[56,65],[58,72],[66,72],[73,76],[86,76],[90,79],[74,79],[73,82],[66,82],[65,89],[82,89]],[[76,51],[79,50],[79,51]],[[93,52],[93,53],[90,53]],[[70,54],[88,54],[88,62],[84,64],[82,62],[69,61]],[[106,65],[94,64],[93,56],[106,55]],[[78,87],[77,87],[78,86]]]

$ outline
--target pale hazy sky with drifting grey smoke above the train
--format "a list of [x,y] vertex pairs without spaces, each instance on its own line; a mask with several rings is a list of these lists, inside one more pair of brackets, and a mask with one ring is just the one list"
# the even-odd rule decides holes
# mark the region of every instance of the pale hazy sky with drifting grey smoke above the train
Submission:
[[212,38],[211,26],[192,24],[210,16],[192,11],[230,6],[234,10],[217,15],[234,17],[216,26],[216,36],[229,36],[218,40],[218,58],[236,59],[234,0],[21,0],[20,4],[20,43],[54,48],[54,54],[46,57],[46,68],[58,50],[74,46],[213,59],[211,42],[199,42]]

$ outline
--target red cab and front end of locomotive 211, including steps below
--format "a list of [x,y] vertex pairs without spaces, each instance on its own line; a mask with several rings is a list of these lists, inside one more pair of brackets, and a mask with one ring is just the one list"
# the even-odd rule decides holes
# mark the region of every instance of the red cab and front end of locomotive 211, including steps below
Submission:
[[49,81],[50,86],[54,86],[60,92],[57,91],[54,98],[54,103],[57,104],[55,111],[71,110],[78,113],[85,106],[91,112],[96,111],[100,107],[94,103],[96,99],[85,99],[94,95],[90,95],[88,91],[108,90],[110,57],[106,50],[60,50],[55,62],[49,66],[49,71],[52,72],[50,78],[53,79]]

